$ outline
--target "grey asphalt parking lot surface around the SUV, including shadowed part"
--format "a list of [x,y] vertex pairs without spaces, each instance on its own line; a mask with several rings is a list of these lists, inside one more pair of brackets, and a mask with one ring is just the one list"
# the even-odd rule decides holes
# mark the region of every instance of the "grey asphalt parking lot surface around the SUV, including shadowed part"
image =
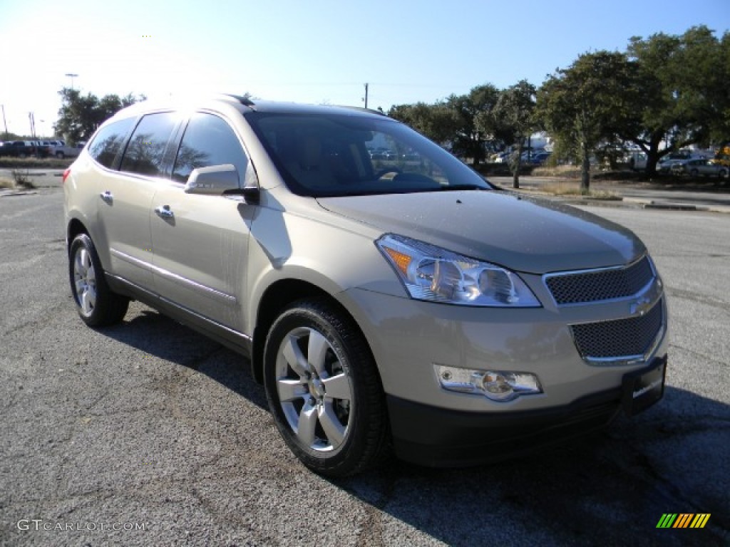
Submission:
[[61,206],[58,187],[0,198],[0,545],[730,544],[730,215],[591,209],[664,277],[657,406],[550,454],[334,482],[286,449],[237,354],[138,303],[82,324]]

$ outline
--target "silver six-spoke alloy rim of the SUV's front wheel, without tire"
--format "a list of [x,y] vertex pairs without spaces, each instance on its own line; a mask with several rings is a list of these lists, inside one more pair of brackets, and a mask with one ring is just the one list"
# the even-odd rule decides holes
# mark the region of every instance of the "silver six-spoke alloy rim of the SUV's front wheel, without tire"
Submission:
[[353,386],[342,356],[317,330],[285,335],[276,360],[280,405],[299,442],[315,452],[335,451],[347,438]]

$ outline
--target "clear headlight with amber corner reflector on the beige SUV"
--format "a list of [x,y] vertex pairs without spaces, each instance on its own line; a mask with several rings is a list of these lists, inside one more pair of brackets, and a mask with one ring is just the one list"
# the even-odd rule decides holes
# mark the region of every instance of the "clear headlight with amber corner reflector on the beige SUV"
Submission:
[[376,243],[411,298],[464,306],[540,307],[525,282],[498,265],[393,234]]

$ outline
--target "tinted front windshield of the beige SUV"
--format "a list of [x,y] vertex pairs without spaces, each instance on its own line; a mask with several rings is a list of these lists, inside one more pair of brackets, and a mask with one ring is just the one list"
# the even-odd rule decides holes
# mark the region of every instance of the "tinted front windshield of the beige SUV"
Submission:
[[437,144],[388,117],[252,112],[246,118],[299,195],[491,189]]

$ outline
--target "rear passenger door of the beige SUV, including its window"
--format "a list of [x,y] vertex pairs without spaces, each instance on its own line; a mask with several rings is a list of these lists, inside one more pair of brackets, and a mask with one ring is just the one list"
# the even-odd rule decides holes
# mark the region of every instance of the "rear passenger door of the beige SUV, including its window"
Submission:
[[177,125],[180,117],[172,112],[142,117],[126,144],[119,170],[102,173],[98,186],[98,224],[110,252],[110,271],[146,290],[153,290],[154,283],[150,204],[160,179],[169,176],[164,158]]

